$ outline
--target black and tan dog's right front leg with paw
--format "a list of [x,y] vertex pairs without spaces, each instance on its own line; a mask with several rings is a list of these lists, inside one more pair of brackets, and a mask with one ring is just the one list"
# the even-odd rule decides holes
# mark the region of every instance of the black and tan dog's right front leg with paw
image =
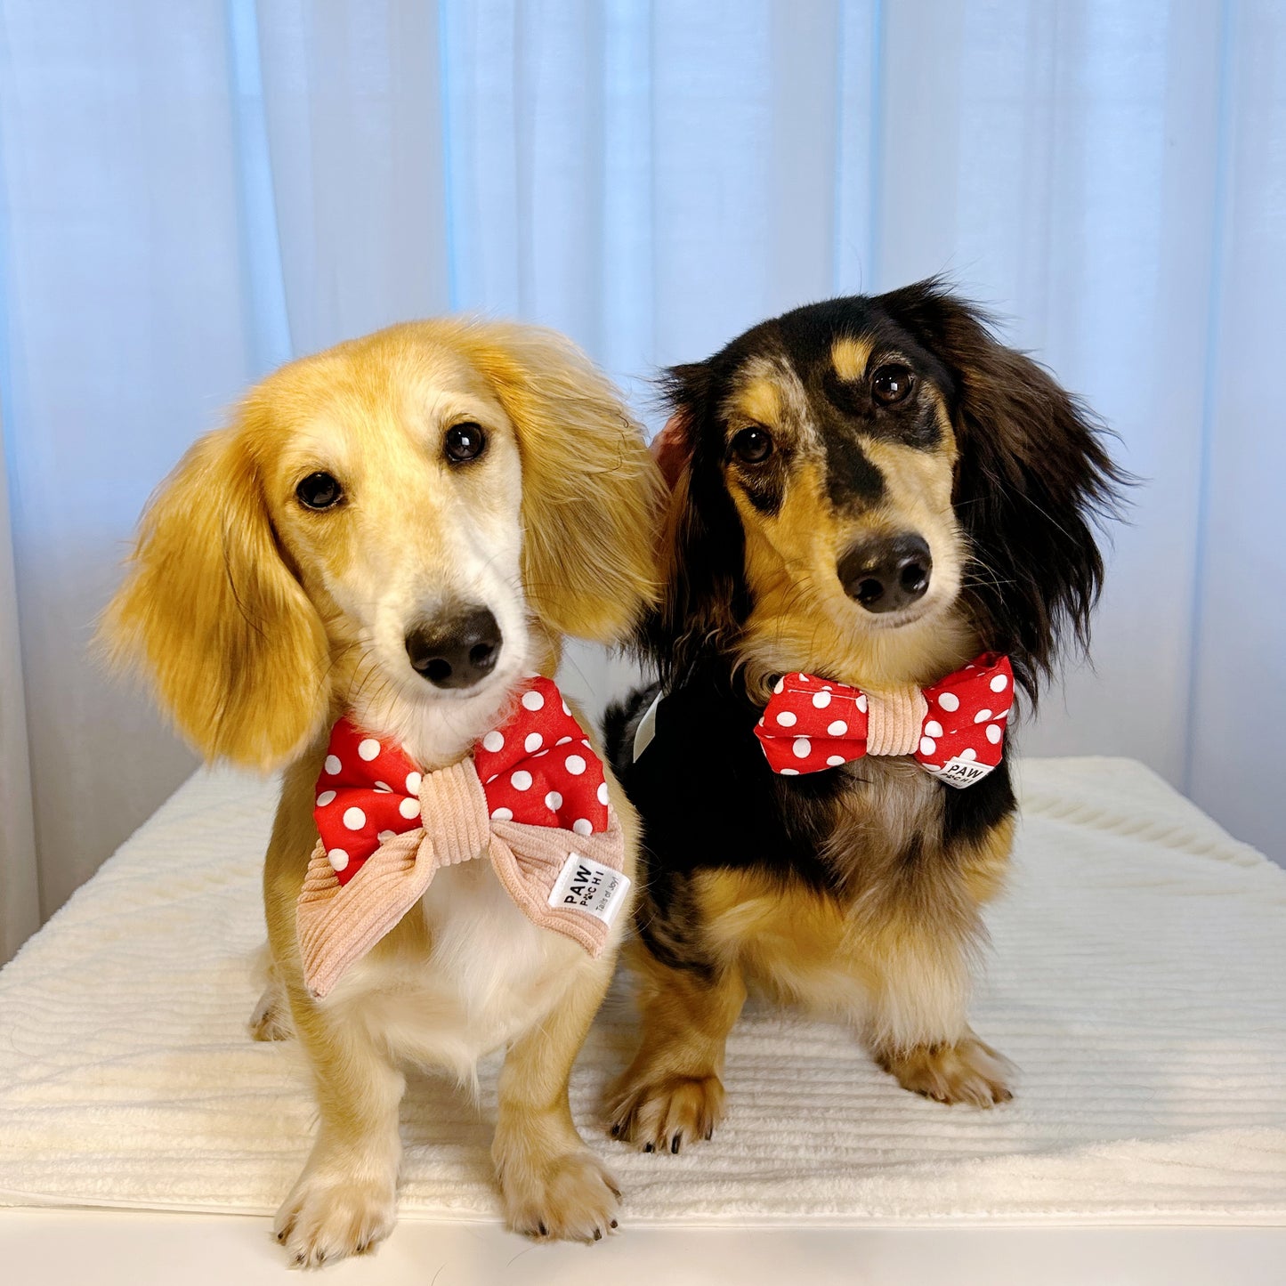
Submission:
[[968,1025],[968,959],[949,934],[899,935],[878,953],[865,1030],[876,1062],[913,1093],[941,1103],[1007,1102],[1012,1066]]

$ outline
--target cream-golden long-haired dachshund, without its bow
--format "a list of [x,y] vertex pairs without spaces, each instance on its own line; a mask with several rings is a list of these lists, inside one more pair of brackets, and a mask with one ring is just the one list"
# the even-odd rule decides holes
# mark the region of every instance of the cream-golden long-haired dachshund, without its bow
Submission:
[[[320,1001],[296,908],[332,724],[396,739],[426,774],[466,760],[532,674],[553,675],[562,635],[610,642],[634,624],[655,595],[658,503],[637,426],[572,345],[437,320],[265,379],[141,521],[103,624],[112,655],[207,759],[284,768],[264,898],[289,1020],[270,988],[258,1021],[293,1026],[315,1079],[316,1141],[275,1223],[300,1265],[391,1231],[404,1066],[468,1080],[502,1047],[509,1223],[583,1241],[616,1226],[620,1193],[567,1082],[628,910],[595,957],[523,914],[491,862],[445,867]],[[637,818],[610,774],[607,791],[633,877]]]

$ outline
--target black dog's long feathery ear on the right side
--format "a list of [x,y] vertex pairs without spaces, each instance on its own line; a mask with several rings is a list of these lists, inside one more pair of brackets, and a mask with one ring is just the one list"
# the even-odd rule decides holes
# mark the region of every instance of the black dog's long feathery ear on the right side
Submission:
[[1034,701],[1058,647],[1089,642],[1102,586],[1096,539],[1127,476],[1092,412],[936,280],[885,296],[949,367],[959,462],[955,511],[971,545],[966,594],[989,647]]

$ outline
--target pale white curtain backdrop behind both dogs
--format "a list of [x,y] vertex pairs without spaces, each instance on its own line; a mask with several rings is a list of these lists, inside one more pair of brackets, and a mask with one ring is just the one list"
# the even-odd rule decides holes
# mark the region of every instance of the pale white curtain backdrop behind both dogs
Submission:
[[148,493],[248,382],[484,309],[566,331],[655,422],[658,365],[943,270],[1146,480],[1097,669],[1024,748],[1137,756],[1286,859],[1281,5],[0,0],[0,958],[23,827],[48,916],[193,764],[85,646]]

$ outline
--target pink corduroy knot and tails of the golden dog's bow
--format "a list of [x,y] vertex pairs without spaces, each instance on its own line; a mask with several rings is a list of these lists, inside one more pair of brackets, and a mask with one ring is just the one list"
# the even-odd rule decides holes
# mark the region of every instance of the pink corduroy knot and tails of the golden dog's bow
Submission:
[[424,773],[415,827],[386,840],[346,885],[319,840],[297,904],[303,980],[319,999],[345,970],[365,955],[424,895],[440,867],[489,856],[500,883],[532,923],[599,955],[608,923],[575,907],[550,907],[549,896],[572,855],[620,872],[625,837],[615,810],[608,828],[576,835],[558,827],[493,820],[473,760]]

